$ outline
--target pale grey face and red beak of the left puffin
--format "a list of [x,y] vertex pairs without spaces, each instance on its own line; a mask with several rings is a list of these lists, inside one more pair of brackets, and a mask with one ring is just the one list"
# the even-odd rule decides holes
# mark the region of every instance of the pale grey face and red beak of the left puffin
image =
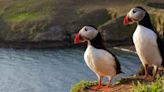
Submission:
[[94,39],[98,31],[91,26],[84,26],[74,38],[74,44]]

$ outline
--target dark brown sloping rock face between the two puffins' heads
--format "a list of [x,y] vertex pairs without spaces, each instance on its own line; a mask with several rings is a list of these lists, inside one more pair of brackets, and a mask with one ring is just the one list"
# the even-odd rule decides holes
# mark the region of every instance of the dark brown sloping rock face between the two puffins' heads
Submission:
[[101,31],[104,41],[107,45],[132,44],[132,34],[136,25],[123,25],[123,16],[110,20],[101,25],[98,29]]

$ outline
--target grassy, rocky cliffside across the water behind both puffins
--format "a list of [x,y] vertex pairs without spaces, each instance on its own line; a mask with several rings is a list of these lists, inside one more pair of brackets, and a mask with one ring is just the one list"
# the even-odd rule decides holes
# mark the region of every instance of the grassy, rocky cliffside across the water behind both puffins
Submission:
[[[74,35],[84,25],[98,27],[107,45],[131,44],[135,25],[122,25],[122,15],[134,7],[127,2],[131,0],[1,0],[0,46],[70,47]],[[161,37],[164,35],[163,13],[163,10],[151,11]]]

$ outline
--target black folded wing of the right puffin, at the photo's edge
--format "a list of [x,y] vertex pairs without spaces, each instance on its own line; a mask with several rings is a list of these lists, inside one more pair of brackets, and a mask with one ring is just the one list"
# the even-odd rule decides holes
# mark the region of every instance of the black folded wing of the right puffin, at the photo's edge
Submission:
[[164,67],[164,43],[159,36],[157,38],[157,44],[162,57],[162,66]]

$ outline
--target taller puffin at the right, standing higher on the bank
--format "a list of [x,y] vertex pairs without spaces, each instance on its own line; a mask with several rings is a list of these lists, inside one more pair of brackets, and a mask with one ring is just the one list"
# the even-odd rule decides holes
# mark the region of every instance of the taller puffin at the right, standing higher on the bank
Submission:
[[[159,34],[154,30],[148,12],[141,6],[132,8],[124,17],[123,24],[137,23],[133,33],[133,43],[136,52],[144,66],[144,79],[153,81],[158,68],[164,66],[164,44]],[[152,76],[148,68],[153,66]]]

